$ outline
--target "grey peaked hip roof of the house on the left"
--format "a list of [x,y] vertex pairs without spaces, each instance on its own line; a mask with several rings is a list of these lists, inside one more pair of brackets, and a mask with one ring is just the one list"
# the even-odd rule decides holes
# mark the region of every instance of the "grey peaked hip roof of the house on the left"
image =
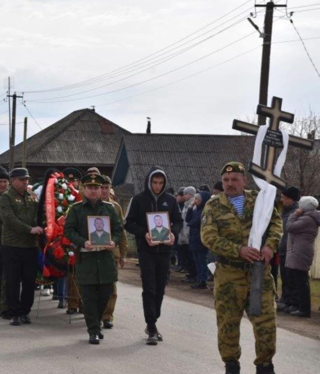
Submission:
[[[81,109],[28,139],[27,165],[110,165],[113,166],[124,134],[121,128],[90,109]],[[15,147],[15,162],[22,159],[22,143]],[[0,155],[3,165],[10,153]]]

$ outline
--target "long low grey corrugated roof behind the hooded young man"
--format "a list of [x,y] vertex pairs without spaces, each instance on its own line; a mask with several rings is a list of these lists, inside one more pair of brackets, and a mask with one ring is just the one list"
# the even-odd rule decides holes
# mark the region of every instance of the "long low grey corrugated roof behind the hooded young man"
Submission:
[[[227,162],[240,161],[248,168],[252,160],[254,141],[255,137],[248,135],[129,134],[124,135],[122,144],[127,153],[135,192],[138,192],[143,189],[145,175],[151,165],[164,168],[168,176],[168,186],[175,191],[181,186],[199,187],[205,183],[212,188],[215,182],[221,180],[220,171]],[[319,146],[319,141],[315,141],[315,149],[312,151],[315,155],[314,164],[319,165],[319,172],[309,176],[309,171],[304,183],[309,183],[310,177],[319,179]],[[301,168],[297,165],[297,152],[299,151],[289,146],[282,177],[287,179],[289,185],[303,188],[300,180]],[[121,165],[116,167],[121,168]],[[304,172],[307,173],[306,170]],[[248,177],[248,186],[257,188],[252,177]],[[314,183],[309,193],[320,196],[320,184]]]

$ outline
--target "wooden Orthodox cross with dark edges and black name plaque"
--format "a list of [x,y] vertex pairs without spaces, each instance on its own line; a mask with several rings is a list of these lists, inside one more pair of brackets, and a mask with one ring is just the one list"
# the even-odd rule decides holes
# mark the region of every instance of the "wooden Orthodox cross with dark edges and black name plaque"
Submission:
[[[265,162],[261,163],[262,166],[250,162],[249,172],[255,175],[256,177],[267,181],[269,184],[273,184],[280,190],[284,190],[286,188],[287,182],[274,174],[274,163],[276,160],[277,148],[283,148],[282,133],[279,131],[280,121],[286,123],[293,123],[294,115],[282,111],[281,107],[282,99],[280,99],[279,97],[272,98],[271,107],[267,107],[265,105],[258,105],[257,107],[257,114],[270,118],[269,127],[263,140],[263,144],[266,145],[267,150]],[[259,126],[252,125],[251,123],[234,120],[232,128],[243,132],[247,132],[249,134],[257,135]],[[294,137],[292,135],[289,135],[289,144],[308,150],[312,150],[313,148],[312,140],[302,139]],[[249,308],[251,315],[261,315],[263,278],[264,265],[261,261],[255,261],[251,269],[251,292]]]

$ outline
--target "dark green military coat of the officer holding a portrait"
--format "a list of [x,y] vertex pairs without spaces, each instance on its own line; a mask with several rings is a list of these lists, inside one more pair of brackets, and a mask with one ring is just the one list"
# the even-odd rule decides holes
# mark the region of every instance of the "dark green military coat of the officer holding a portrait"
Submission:
[[[71,206],[66,216],[64,234],[74,245],[84,248],[88,239],[89,215],[108,216],[110,218],[111,239],[119,243],[123,228],[112,203],[99,200],[93,206],[86,197]],[[112,251],[77,251],[76,273],[79,284],[103,284],[117,281],[115,259]]]

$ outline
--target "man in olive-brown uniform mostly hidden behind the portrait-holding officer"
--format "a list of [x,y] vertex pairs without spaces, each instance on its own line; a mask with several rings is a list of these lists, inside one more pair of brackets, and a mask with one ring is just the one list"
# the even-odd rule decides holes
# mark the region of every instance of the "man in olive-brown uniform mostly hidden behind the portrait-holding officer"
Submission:
[[[123,225],[124,217],[123,217],[121,206],[117,202],[112,200],[110,197],[111,179],[107,175],[102,175],[102,178],[105,180],[105,182],[102,185],[102,194],[101,194],[102,200],[111,202],[114,205],[116,214],[118,214],[121,224]],[[123,230],[122,237],[119,241],[119,245],[116,246],[114,250],[114,257],[115,257],[117,272],[118,272],[119,266],[121,267],[121,269],[124,267],[127,251],[128,251],[127,234],[125,233],[125,230]],[[113,328],[114,326],[113,325],[113,319],[114,319],[113,314],[115,310],[116,299],[117,299],[117,290],[116,290],[116,283],[114,283],[114,290],[109,298],[108,304],[106,305],[105,311],[103,312],[103,316],[102,316],[104,328]]]

